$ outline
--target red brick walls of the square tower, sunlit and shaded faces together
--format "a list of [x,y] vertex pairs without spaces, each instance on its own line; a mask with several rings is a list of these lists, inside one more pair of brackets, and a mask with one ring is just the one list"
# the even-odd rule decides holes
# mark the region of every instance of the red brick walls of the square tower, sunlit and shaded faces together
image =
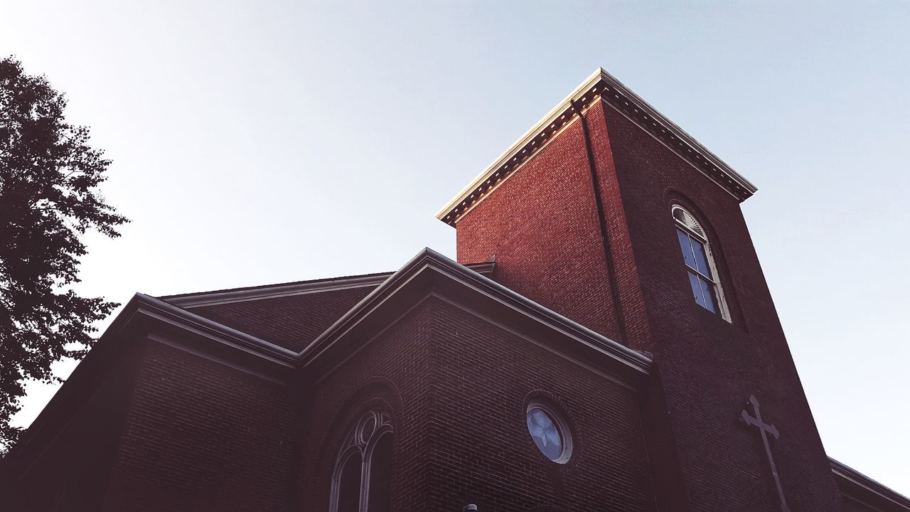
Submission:
[[[659,381],[644,417],[663,508],[774,509],[760,439],[737,422],[755,394],[781,431],[773,453],[791,509],[837,509],[824,448],[737,200],[613,108],[597,105],[585,117],[622,341],[655,353]],[[618,339],[591,190],[576,122],[459,221],[459,259],[496,254],[498,281]],[[693,302],[673,201],[708,227],[733,323]]]

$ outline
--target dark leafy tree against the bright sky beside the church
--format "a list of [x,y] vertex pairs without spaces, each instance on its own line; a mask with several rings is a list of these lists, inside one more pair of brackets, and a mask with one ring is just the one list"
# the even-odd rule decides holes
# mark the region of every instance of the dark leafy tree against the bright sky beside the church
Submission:
[[9,425],[22,381],[55,382],[51,364],[81,359],[95,343],[93,323],[116,303],[81,297],[80,240],[86,230],[117,237],[126,218],[98,192],[110,160],[88,145],[88,128],[64,118],[66,99],[46,77],[0,60],[0,445],[20,434]]

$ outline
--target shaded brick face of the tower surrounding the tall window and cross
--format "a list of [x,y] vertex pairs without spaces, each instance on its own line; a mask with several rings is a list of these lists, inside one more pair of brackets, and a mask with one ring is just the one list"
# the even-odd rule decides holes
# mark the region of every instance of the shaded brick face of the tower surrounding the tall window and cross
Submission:
[[[790,508],[837,509],[839,493],[738,202],[612,108],[605,121],[692,508],[774,507],[760,438],[736,421],[754,394],[781,432],[773,454]],[[670,216],[674,200],[709,227],[733,323],[692,300]]]

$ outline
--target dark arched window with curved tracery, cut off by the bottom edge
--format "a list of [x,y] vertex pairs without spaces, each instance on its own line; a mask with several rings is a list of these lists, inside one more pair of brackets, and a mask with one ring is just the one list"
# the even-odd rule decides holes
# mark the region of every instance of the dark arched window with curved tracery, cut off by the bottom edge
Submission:
[[379,409],[360,416],[345,437],[332,475],[332,512],[388,512],[392,425]]

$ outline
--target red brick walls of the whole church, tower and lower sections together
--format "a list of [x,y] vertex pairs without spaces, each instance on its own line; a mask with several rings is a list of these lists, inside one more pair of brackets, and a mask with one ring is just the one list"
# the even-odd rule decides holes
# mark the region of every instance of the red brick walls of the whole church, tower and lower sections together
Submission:
[[[732,323],[693,302],[673,203],[707,231]],[[622,384],[456,303],[467,302],[457,282],[397,296],[416,303],[389,301],[411,307],[397,319],[371,310],[362,325],[377,331],[347,331],[271,377],[176,326],[161,333],[186,335],[170,340],[186,350],[151,341],[142,329],[158,321],[137,320],[141,337],[106,340],[130,350],[0,469],[35,510],[326,512],[343,437],[381,407],[396,512],[777,510],[758,431],[737,421],[754,394],[781,433],[772,450],[790,509],[869,509],[842,504],[739,203],[613,108],[591,106],[457,236],[459,261],[496,256],[496,281],[653,353],[645,382]],[[298,351],[373,289],[190,311]],[[567,464],[534,445],[532,399],[567,417]]]

